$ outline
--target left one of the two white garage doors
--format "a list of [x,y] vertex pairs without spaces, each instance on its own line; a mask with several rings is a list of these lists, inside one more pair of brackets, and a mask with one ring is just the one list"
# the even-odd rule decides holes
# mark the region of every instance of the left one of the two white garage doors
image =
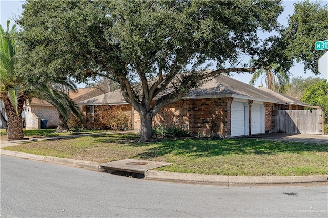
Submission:
[[245,135],[245,107],[241,102],[231,103],[231,136]]

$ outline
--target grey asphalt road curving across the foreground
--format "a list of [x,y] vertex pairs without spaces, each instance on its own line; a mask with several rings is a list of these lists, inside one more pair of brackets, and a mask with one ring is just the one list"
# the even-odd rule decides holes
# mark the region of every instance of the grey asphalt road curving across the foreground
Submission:
[[328,186],[157,182],[1,155],[1,217],[328,217]]

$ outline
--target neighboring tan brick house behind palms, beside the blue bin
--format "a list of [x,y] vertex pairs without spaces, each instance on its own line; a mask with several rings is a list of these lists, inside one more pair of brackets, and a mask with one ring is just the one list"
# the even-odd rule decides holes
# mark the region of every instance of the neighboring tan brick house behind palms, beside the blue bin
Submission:
[[[82,88],[77,92],[70,92],[69,97],[74,102],[92,98],[104,93],[99,88]],[[58,126],[59,116],[54,106],[46,101],[33,98],[25,107],[25,125],[26,129],[40,129],[41,120],[47,120],[47,128],[55,128]]]

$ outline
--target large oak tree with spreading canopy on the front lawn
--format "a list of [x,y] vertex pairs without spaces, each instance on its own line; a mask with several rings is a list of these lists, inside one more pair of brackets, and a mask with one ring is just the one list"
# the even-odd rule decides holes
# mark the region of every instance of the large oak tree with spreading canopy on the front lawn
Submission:
[[[118,82],[140,114],[140,139],[147,141],[160,108],[204,79],[251,73],[276,61],[274,40],[263,43],[258,33],[278,28],[280,3],[29,0],[18,21],[25,68],[49,75],[69,69],[79,81],[104,76]],[[245,56],[256,60],[252,66],[242,64]],[[208,61],[214,71],[204,71]]]

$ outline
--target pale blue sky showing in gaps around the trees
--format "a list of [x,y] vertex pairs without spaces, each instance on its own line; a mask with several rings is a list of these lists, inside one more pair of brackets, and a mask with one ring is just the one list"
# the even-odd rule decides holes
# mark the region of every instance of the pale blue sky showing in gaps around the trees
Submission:
[[[294,3],[297,1],[283,1],[283,6],[285,10],[283,13],[279,16],[278,21],[280,24],[286,26],[287,25],[287,20],[290,15],[293,14],[294,12]],[[15,17],[18,17],[20,13],[22,13],[22,3],[23,1],[20,0],[0,0],[0,8],[1,8],[1,26],[5,29],[6,28],[6,22],[7,20],[11,20],[11,24],[14,23],[13,19]],[[328,0],[322,1],[323,5],[328,4]],[[313,45],[313,48],[314,45]],[[291,78],[292,77],[297,77],[297,76],[302,76],[304,78],[310,77],[310,76],[315,76],[311,72],[306,72],[304,73],[304,66],[302,64],[296,63],[294,67],[290,69],[291,73]],[[320,78],[325,78],[323,75],[318,75]],[[239,81],[242,81],[244,83],[248,83],[252,75],[249,73],[241,73],[241,74],[234,74],[232,78],[237,79]],[[259,78],[255,82],[255,86],[261,86],[262,82],[265,84],[265,78]]]

